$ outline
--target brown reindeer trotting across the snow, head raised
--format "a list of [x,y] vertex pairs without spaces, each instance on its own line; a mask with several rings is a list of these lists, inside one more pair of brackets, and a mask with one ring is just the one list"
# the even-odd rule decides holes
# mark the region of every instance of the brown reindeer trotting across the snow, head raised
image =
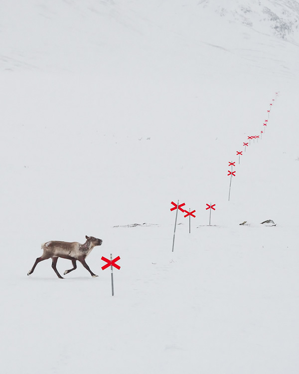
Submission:
[[97,277],[98,275],[94,274],[87,263],[85,262],[85,258],[89,255],[89,253],[93,250],[93,247],[97,245],[101,245],[103,240],[97,239],[93,236],[85,236],[86,242],[84,244],[80,244],[76,241],[73,241],[71,243],[67,241],[47,241],[46,243],[41,245],[41,248],[43,249],[43,254],[36,259],[34,262],[34,265],[31,270],[28,271],[27,275],[30,275],[33,273],[35,266],[43,260],[47,260],[48,258],[52,258],[52,268],[55,271],[58,278],[63,279],[63,277],[58,273],[56,269],[56,263],[58,260],[58,257],[66,258],[68,260],[72,261],[73,268],[70,270],[65,270],[63,273],[68,274],[71,271],[77,269],[76,261],[80,261],[81,264],[87,269],[91,276],[93,278]]

